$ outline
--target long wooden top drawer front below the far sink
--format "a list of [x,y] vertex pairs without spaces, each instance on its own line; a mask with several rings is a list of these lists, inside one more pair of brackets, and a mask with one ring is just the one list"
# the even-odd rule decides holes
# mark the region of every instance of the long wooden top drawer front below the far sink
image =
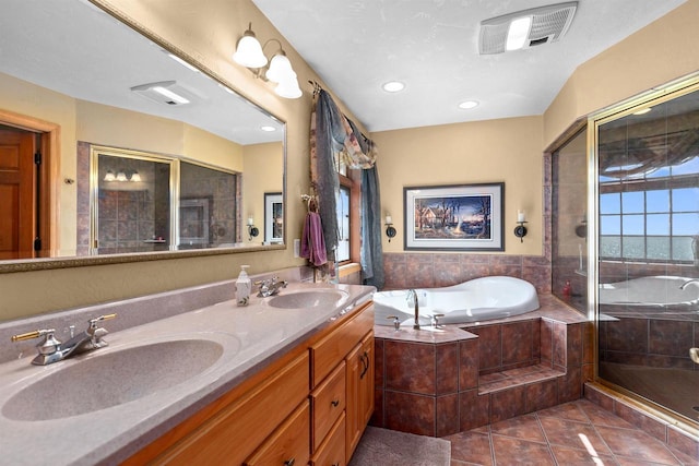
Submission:
[[310,347],[312,387],[342,361],[347,353],[374,330],[374,307],[368,303],[351,320]]

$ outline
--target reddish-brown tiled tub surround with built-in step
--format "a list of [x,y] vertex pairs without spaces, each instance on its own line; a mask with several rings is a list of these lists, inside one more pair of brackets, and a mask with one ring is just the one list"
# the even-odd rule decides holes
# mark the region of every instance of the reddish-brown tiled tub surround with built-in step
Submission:
[[440,332],[375,326],[372,425],[443,437],[578,399],[592,325],[550,295],[541,309]]

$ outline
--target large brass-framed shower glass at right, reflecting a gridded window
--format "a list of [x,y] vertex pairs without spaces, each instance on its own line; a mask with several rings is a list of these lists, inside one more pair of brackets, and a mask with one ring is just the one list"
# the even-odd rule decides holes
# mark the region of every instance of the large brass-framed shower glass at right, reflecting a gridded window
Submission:
[[[597,122],[599,379],[699,426],[699,91]],[[650,111],[648,111],[650,109]],[[647,110],[647,111],[636,111]]]

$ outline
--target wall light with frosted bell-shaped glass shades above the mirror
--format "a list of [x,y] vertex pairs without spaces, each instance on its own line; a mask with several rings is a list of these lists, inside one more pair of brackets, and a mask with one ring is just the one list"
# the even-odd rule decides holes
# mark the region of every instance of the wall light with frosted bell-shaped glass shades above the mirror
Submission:
[[[279,50],[274,52],[268,62],[263,50],[271,41],[275,41],[279,45]],[[236,51],[233,53],[233,61],[249,69],[256,77],[275,83],[274,93],[280,97],[298,98],[304,94],[298,86],[298,80],[292,68],[292,62],[282,48],[282,43],[272,38],[261,46],[252,32],[252,23],[248,25],[247,31],[238,40]]]

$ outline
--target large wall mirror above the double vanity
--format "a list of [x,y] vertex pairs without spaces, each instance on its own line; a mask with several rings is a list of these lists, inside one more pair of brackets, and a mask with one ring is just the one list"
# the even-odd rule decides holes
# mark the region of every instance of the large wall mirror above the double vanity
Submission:
[[8,0],[0,39],[0,272],[284,242],[247,235],[283,121],[87,1]]

